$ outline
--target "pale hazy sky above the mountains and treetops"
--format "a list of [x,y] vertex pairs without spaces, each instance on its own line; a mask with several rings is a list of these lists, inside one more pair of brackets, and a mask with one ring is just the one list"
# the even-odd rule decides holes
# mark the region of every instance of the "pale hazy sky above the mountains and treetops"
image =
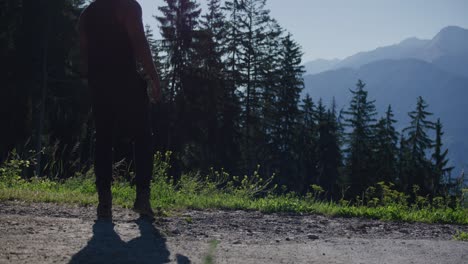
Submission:
[[[164,1],[137,1],[145,23],[157,29],[152,15]],[[304,61],[342,59],[408,37],[429,39],[448,25],[468,28],[468,0],[267,0],[267,8],[302,46]]]

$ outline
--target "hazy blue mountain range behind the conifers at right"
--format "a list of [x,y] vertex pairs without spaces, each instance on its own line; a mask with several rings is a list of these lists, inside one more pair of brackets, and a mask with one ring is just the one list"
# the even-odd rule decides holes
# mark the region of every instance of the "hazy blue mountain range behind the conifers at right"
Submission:
[[333,98],[346,109],[349,89],[358,79],[366,83],[369,97],[376,100],[379,114],[391,105],[397,128],[408,126],[408,112],[422,96],[444,125],[444,143],[456,169],[468,167],[468,30],[443,28],[430,40],[409,38],[398,44],[360,52],[343,60],[316,60],[306,63],[305,89],[326,104]]

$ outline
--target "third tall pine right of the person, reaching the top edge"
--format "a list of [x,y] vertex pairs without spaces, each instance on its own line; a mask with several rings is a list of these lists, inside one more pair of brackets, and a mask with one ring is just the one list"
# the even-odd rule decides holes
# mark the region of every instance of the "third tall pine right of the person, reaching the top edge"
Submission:
[[263,160],[267,138],[262,124],[263,59],[271,34],[271,18],[265,0],[227,1],[229,15],[227,64],[231,84],[239,91],[242,106],[243,167],[253,170]]

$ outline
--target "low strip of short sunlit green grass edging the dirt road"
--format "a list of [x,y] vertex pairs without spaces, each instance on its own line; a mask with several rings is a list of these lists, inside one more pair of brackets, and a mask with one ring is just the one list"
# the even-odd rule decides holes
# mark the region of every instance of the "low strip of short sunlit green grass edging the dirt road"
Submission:
[[[316,213],[329,216],[364,217],[387,221],[468,224],[468,210],[463,208],[414,208],[399,204],[386,206],[353,206],[323,202],[294,194],[252,197],[242,189],[219,190],[210,184],[182,179],[182,184],[157,179],[152,183],[152,206],[165,211],[179,209],[257,210],[265,213]],[[204,186],[204,187],[201,187]],[[112,186],[114,204],[129,208],[135,190],[128,183],[115,182]],[[97,195],[91,177],[77,177],[63,182],[47,179],[18,180],[0,183],[0,200],[51,202],[96,205]],[[188,220],[189,221],[189,220]]]

